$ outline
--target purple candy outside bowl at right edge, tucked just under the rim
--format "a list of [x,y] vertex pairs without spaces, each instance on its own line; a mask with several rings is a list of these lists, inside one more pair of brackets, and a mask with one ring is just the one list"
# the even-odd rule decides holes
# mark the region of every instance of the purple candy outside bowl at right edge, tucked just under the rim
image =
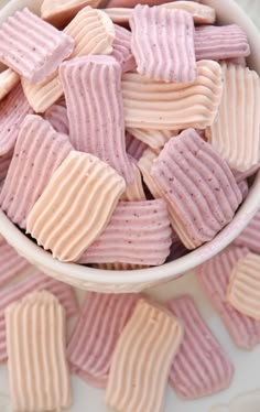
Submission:
[[253,217],[246,229],[235,239],[237,246],[245,246],[252,252],[260,253],[260,212]]

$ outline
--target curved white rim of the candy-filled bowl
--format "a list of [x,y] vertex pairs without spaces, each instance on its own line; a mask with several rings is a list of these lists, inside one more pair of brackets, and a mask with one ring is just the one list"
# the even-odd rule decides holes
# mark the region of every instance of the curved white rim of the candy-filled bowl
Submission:
[[[247,31],[249,41],[252,42],[252,54],[257,53],[257,44],[260,44],[260,33],[254,26],[249,17],[235,3],[234,0],[226,0],[229,3],[231,14],[236,13],[236,21]],[[12,0],[10,3],[15,3]],[[10,3],[3,10],[10,7]],[[202,3],[212,6],[218,12],[219,0],[203,0]],[[0,11],[0,21],[1,19]],[[223,19],[221,19],[223,20]],[[227,22],[231,21],[228,17]],[[260,55],[254,54],[257,62],[254,62],[254,69],[257,66],[260,73]],[[257,57],[258,56],[258,57]],[[250,63],[250,59],[249,59]],[[59,273],[72,279],[72,283],[94,282],[94,283],[110,283],[115,285],[120,284],[150,284],[151,282],[161,283],[166,280],[172,280],[177,275],[192,270],[206,260],[213,258],[227,247],[249,224],[251,218],[260,208],[260,171],[258,172],[246,200],[241,204],[234,219],[210,241],[199,248],[191,251],[184,257],[181,257],[172,262],[163,263],[160,267],[145,268],[139,270],[104,270],[80,265],[77,263],[61,262],[53,259],[50,252],[45,251],[32,240],[30,240],[7,215],[0,209],[0,234],[6,240],[17,249],[17,251],[25,257],[29,261],[40,267],[41,270],[47,274]]]

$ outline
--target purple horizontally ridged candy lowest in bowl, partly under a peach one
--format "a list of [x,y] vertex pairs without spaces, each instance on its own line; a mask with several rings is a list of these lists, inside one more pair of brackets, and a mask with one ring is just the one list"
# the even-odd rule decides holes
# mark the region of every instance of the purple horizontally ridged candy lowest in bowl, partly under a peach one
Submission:
[[80,263],[162,264],[172,230],[162,199],[120,202],[105,231],[79,258]]

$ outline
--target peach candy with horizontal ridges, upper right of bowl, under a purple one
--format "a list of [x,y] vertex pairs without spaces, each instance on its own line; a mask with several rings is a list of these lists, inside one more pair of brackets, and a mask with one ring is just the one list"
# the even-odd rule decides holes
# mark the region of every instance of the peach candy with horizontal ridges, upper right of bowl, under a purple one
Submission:
[[221,68],[213,61],[197,63],[194,84],[152,82],[136,73],[122,75],[126,127],[180,130],[210,126],[220,105]]

